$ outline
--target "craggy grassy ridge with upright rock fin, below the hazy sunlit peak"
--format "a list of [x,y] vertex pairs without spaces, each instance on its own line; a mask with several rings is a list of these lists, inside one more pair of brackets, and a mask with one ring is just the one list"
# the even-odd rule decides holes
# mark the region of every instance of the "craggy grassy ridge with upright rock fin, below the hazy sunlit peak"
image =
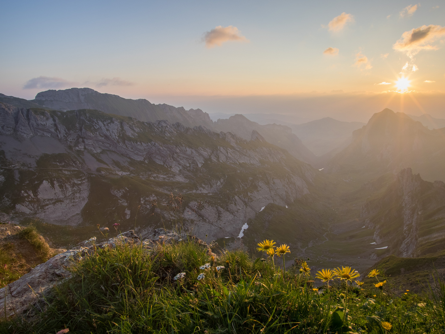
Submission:
[[[378,191],[377,191],[378,192]],[[445,183],[398,173],[383,195],[368,200],[360,216],[375,229],[376,244],[400,257],[424,256],[445,248]]]

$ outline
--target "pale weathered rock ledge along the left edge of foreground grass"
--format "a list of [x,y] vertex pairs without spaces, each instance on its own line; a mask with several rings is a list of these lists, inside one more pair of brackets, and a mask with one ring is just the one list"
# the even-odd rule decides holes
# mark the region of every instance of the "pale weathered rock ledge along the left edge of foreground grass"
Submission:
[[[167,231],[163,228],[158,228],[145,240],[142,240],[142,247],[150,249],[156,242],[171,243],[179,240],[193,239],[195,242],[205,244],[202,240],[189,236],[187,234],[178,234],[173,231]],[[106,243],[99,243],[96,247],[103,247]],[[109,239],[110,247],[115,247],[117,244],[141,244],[141,240],[134,233],[133,230],[121,233],[117,237]],[[37,265],[31,272],[24,274],[17,281],[8,284],[3,289],[0,289],[0,316],[8,317],[12,315],[21,316],[28,312],[32,312],[35,308],[38,310],[39,301],[43,301],[45,296],[48,296],[52,288],[59,282],[71,276],[67,267],[69,267],[73,258],[84,256],[85,253],[92,253],[93,246],[81,247],[81,249],[69,249],[64,253],[57,254],[48,261]],[[6,294],[6,301],[5,301]],[[6,307],[4,306],[6,305]]]

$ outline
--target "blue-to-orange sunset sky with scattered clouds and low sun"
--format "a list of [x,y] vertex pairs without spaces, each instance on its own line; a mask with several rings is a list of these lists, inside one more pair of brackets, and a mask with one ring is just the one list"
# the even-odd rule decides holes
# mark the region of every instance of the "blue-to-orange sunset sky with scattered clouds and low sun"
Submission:
[[445,118],[443,1],[5,1],[0,93],[213,112]]

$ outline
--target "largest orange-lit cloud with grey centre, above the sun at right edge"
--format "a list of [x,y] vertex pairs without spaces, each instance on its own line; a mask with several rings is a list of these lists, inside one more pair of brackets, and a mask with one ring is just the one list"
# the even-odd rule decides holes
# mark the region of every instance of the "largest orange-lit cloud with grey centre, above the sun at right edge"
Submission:
[[405,31],[401,39],[392,45],[392,49],[405,52],[409,57],[413,57],[421,50],[437,50],[437,45],[433,42],[441,37],[445,37],[445,27],[440,25],[422,25],[419,28]]

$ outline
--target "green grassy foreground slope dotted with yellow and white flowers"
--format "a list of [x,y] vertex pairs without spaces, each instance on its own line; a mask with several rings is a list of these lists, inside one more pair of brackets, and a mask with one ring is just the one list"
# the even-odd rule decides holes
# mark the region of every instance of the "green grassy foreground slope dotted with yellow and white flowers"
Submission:
[[[392,333],[420,334],[445,326],[441,281],[431,299],[385,289],[380,298],[373,285],[351,285],[346,296],[340,282],[331,281],[329,293],[324,286],[317,290],[299,266],[274,274],[271,261],[243,251],[208,254],[192,240],[152,249],[96,248],[73,259],[73,276],[46,297],[43,311],[1,322],[0,332],[383,334],[387,321]],[[206,263],[210,268],[200,269]],[[179,273],[185,277],[175,280]]]

